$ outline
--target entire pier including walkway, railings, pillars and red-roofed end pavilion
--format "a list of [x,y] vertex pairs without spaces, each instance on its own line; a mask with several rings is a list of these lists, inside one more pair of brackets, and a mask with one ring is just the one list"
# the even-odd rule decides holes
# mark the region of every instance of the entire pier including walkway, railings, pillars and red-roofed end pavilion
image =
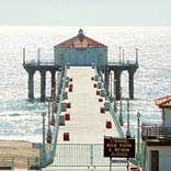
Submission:
[[[109,62],[107,46],[84,36],[83,31],[79,30],[77,36],[54,46],[54,52],[53,62],[42,62],[39,55],[37,60],[26,60],[23,50],[30,99],[34,99],[34,73],[41,73],[41,101],[46,100],[46,72],[52,73],[52,110],[48,111],[48,132],[52,130],[52,136],[47,132],[50,138],[45,144],[43,130],[37,167],[46,168],[44,170],[65,167],[95,169],[111,164],[117,170],[118,166],[126,168],[126,160],[123,162],[118,158],[117,162],[112,163],[104,157],[104,136],[125,138],[110,94],[115,101],[121,99],[121,76],[123,71],[128,71],[129,98],[134,99],[137,49],[136,61],[124,61],[123,55],[122,61]],[[56,72],[59,73],[57,78]],[[113,94],[109,89],[112,82],[115,86]],[[43,113],[43,123],[44,117]],[[50,128],[50,125],[54,127]],[[132,166],[140,163],[137,156],[139,153],[130,159]]]

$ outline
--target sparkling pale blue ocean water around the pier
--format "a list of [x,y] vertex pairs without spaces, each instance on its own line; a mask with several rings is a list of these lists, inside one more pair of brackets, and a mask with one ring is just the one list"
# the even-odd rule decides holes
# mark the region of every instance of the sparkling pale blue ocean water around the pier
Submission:
[[[22,48],[26,59],[53,60],[54,45],[78,34],[79,27],[0,27],[0,139],[42,141],[42,116],[47,103],[41,103],[39,73],[35,73],[35,101],[27,99],[27,73],[22,67]],[[135,73],[135,100],[130,101],[130,132],[136,136],[137,112],[141,122],[160,122],[153,100],[171,92],[171,27],[83,27],[87,36],[109,46],[109,60],[118,61],[118,47],[125,60],[135,60],[139,49],[139,69]],[[46,94],[50,93],[47,73]],[[128,96],[128,73],[122,75],[123,98]],[[124,132],[126,101],[123,101]],[[118,114],[117,114],[118,115]]]

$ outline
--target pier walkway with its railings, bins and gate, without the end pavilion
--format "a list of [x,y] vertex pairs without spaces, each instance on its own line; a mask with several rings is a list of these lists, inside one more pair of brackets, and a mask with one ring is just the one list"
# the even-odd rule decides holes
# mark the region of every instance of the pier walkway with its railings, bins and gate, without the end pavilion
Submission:
[[[60,68],[61,79],[57,81],[55,98],[58,101],[53,102],[53,106],[57,104],[57,111],[53,112],[53,140],[49,145],[43,144],[39,150],[38,167],[47,167],[43,170],[60,170],[66,167],[80,170],[106,168],[110,160],[103,157],[104,136],[125,137],[104,89],[103,77],[99,75],[96,66],[92,68]],[[66,117],[67,114],[69,119]],[[126,162],[117,160],[118,162],[112,166],[117,170],[124,170]],[[140,161],[139,158],[135,158],[132,162]]]

